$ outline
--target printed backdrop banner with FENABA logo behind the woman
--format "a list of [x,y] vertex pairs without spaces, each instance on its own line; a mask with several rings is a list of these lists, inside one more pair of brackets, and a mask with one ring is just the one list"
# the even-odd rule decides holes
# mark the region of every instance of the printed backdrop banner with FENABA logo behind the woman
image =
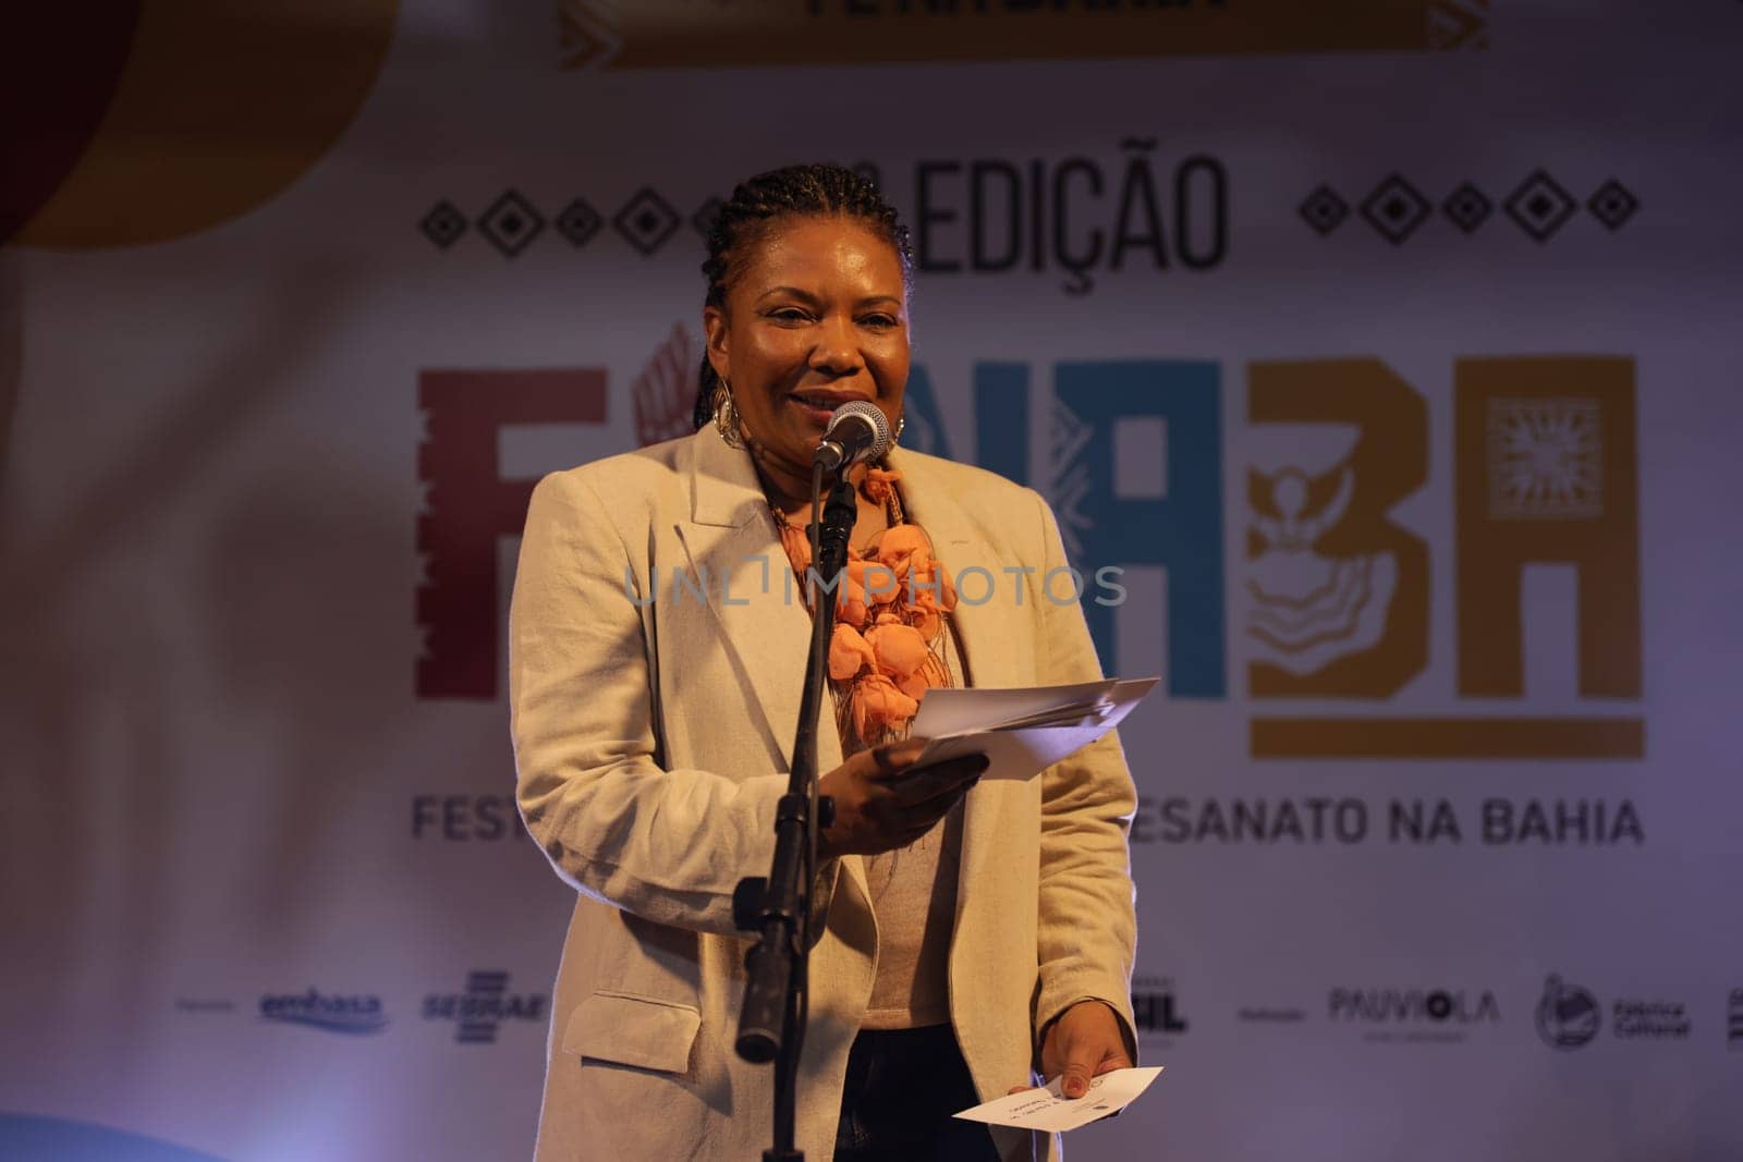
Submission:
[[1743,1157],[1743,9],[119,12],[10,70],[0,1155],[530,1155],[526,497],[688,430],[701,226],[835,160],[906,443],[1163,676],[1168,1070],[1072,1157]]

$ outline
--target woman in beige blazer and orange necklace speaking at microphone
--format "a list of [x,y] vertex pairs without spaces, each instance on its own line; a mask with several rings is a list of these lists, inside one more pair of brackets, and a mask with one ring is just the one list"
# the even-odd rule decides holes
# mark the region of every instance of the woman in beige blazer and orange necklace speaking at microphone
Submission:
[[[810,613],[804,526],[831,411],[899,437],[908,232],[833,166],[739,185],[709,233],[697,432],[540,481],[511,613],[526,829],[577,888],[537,1157],[756,1159],[774,1070],[734,1052]],[[1053,1159],[1056,1138],[950,1115],[1044,1077],[1067,1096],[1135,1059],[1126,828],[1114,735],[1028,780],[917,767],[936,686],[1102,678],[1041,497],[903,451],[849,474],[858,519],[817,732],[809,1159]],[[971,599],[953,578],[976,570]]]

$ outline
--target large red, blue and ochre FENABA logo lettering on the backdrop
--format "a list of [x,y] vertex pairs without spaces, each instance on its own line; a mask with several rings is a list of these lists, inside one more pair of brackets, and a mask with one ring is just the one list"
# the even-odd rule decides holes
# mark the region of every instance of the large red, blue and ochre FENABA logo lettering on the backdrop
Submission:
[[[662,348],[629,392],[643,443],[688,430],[694,347],[682,331],[673,345],[683,357]],[[1084,601],[1103,665],[1119,672],[1133,646],[1163,657],[1173,699],[1243,699],[1255,758],[1640,758],[1633,361],[1461,357],[1450,371],[1450,430],[1436,430],[1424,394],[1375,357],[1058,362],[1051,392],[1042,368],[980,362],[974,460],[1048,495],[1084,573],[1166,577],[1159,610]],[[1231,408],[1232,376],[1245,402]],[[903,444],[969,458],[936,399],[917,366]],[[498,436],[605,425],[608,375],[424,371],[418,401],[417,692],[488,700],[497,540],[519,533],[533,484],[500,477]],[[1523,598],[1544,577],[1569,582],[1572,629],[1558,657],[1529,657],[1541,634]],[[1436,622],[1450,641],[1431,643]],[[1544,672],[1570,681],[1543,693]]]

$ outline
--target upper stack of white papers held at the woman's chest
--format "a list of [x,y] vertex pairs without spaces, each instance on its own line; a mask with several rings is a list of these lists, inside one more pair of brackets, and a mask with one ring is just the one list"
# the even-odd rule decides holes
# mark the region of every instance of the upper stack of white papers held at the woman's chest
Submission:
[[912,728],[931,739],[919,761],[985,754],[983,779],[1030,779],[1117,726],[1156,683],[1110,678],[1025,690],[929,690]]

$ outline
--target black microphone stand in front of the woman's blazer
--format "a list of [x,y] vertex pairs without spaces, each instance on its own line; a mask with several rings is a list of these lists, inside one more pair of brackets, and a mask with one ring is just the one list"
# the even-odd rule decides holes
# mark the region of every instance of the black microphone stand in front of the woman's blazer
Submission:
[[737,1052],[746,1061],[774,1061],[774,1146],[763,1162],[804,1162],[793,1145],[798,1103],[798,1054],[805,1044],[807,972],[810,962],[810,885],[817,868],[817,828],[828,828],[835,803],[817,798],[817,711],[823,678],[828,674],[830,639],[835,634],[837,589],[847,568],[847,540],[859,505],[854,488],[837,477],[828,503],[821,503],[823,465],[810,470],[810,561],[809,577],[824,582],[810,615],[810,653],[805,660],[805,690],[798,704],[793,767],[786,794],[776,807],[774,862],[769,878],[746,876],[732,894],[732,918],[739,929],[758,932],[756,946],[744,958],[744,1007],[739,1010]]

